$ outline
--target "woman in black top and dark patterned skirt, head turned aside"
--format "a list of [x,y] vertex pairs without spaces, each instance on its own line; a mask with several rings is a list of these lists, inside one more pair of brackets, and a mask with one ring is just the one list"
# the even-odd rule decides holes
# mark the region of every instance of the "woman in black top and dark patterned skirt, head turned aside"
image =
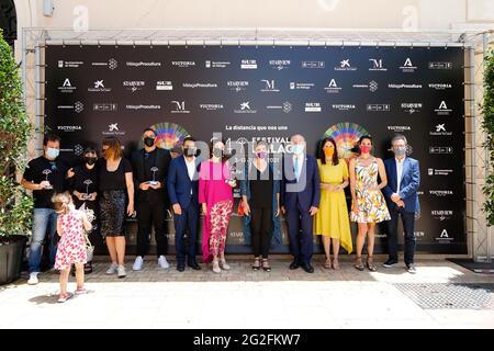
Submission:
[[103,140],[103,157],[99,171],[100,231],[112,260],[106,274],[116,273],[124,278],[125,215],[134,214],[132,165],[123,157],[122,146],[115,137]]

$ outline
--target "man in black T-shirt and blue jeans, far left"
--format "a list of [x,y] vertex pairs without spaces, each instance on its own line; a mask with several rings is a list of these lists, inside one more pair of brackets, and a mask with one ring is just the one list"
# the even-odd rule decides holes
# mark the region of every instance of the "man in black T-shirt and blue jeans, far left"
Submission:
[[27,284],[38,283],[41,260],[46,235],[49,240],[49,265],[55,263],[56,246],[54,237],[57,228],[57,214],[53,208],[52,196],[65,191],[67,166],[59,158],[60,138],[48,134],[43,139],[43,156],[31,160],[21,184],[33,191],[34,228],[29,253],[30,279]]

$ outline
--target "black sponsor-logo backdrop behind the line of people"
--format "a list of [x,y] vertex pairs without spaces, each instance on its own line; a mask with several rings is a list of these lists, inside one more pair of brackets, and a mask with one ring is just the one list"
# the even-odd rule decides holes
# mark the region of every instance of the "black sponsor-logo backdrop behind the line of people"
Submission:
[[[128,155],[147,126],[169,149],[189,134],[283,146],[300,133],[314,154],[332,136],[346,158],[363,134],[377,156],[390,157],[390,139],[401,133],[420,161],[418,249],[467,250],[462,48],[60,45],[45,54],[45,124],[61,136],[64,157],[109,135]],[[250,252],[237,215],[227,242],[229,252]],[[380,226],[378,251],[384,242]],[[274,251],[288,252],[287,245],[283,224]]]

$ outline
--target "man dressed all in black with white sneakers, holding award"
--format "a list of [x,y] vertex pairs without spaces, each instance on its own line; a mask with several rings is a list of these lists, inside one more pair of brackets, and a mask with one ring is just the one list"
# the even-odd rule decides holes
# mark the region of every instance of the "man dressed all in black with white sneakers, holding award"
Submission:
[[132,269],[143,268],[144,256],[149,248],[151,227],[155,228],[158,264],[161,269],[170,265],[165,257],[167,251],[166,214],[169,208],[166,177],[170,163],[170,152],[156,146],[156,132],[143,132],[144,148],[132,155],[137,211],[137,257]]

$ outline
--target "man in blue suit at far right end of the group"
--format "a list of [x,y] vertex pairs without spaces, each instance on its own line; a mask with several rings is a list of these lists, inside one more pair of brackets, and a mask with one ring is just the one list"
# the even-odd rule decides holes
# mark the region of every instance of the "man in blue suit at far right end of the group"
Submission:
[[405,157],[406,138],[396,135],[391,140],[393,158],[384,160],[388,174],[388,185],[383,189],[390,211],[391,220],[388,222],[389,259],[383,263],[385,268],[397,263],[397,223],[402,217],[405,231],[405,264],[409,273],[416,273],[415,254],[415,213],[420,210],[417,190],[420,183],[420,170],[416,159]]

